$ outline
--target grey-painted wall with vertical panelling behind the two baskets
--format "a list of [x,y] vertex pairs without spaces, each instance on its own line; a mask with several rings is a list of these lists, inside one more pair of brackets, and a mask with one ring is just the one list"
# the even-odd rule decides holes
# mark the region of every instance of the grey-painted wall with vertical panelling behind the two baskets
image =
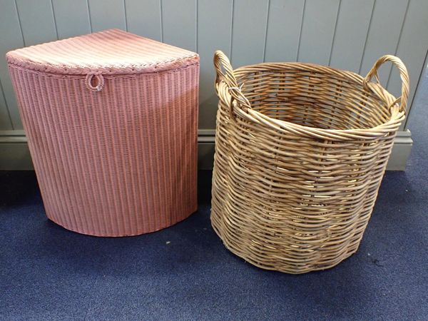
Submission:
[[[200,128],[215,128],[213,52],[233,66],[302,61],[362,75],[379,56],[409,68],[412,96],[428,50],[427,0],[0,0],[0,56],[22,46],[119,28],[200,54]],[[397,71],[382,67],[399,94]],[[22,124],[0,58],[0,131]]]

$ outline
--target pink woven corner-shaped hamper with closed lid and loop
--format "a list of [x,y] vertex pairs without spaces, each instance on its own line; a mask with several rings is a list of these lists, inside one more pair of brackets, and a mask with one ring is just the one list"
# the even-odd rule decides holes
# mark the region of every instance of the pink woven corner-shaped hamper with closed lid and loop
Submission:
[[126,236],[195,212],[198,54],[111,29],[6,59],[50,220]]

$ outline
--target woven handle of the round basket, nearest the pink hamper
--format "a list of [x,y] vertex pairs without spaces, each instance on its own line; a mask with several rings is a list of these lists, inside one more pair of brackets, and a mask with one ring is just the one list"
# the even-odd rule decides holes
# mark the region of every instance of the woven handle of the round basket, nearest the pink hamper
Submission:
[[[238,81],[236,81],[235,73],[233,72],[233,67],[230,64],[229,58],[223,54],[223,51],[217,50],[214,53],[214,66],[216,71],[215,76],[215,88],[218,87],[221,81],[223,81],[228,86],[228,91],[230,93],[230,116],[233,116],[233,103],[235,102],[240,108],[243,108],[245,111],[247,108],[250,108],[250,102],[244,96],[241,88],[238,87]],[[225,72],[223,72],[222,68]]]

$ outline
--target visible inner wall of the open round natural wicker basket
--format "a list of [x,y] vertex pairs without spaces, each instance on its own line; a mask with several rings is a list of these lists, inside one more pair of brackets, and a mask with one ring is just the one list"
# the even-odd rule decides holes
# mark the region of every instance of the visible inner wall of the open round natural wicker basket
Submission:
[[362,86],[362,78],[332,68],[241,69],[239,85],[253,110],[282,121],[323,129],[367,129],[391,118],[389,108]]

